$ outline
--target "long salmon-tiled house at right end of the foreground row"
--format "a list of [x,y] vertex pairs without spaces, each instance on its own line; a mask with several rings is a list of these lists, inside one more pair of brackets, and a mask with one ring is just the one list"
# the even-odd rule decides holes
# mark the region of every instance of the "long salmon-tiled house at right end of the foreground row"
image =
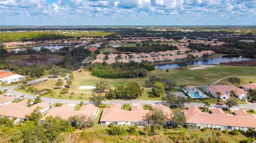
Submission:
[[256,129],[256,117],[255,116],[243,116],[243,115],[231,115],[217,113],[201,112],[198,108],[188,108],[183,110],[183,114],[186,117],[187,124],[193,124],[196,128],[217,128],[221,130],[248,130],[249,128]]

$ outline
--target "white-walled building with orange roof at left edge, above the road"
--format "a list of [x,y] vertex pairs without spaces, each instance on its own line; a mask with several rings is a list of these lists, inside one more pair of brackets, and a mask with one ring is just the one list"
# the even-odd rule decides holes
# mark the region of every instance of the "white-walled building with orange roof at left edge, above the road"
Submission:
[[0,83],[5,83],[5,84],[9,85],[12,82],[19,82],[19,81],[22,81],[25,79],[26,79],[26,77],[23,75],[0,70]]

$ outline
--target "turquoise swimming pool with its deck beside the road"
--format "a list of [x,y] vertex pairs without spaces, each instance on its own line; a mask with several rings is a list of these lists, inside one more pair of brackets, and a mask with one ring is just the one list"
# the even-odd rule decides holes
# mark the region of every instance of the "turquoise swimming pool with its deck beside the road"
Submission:
[[192,99],[202,99],[202,98],[209,98],[205,95],[201,90],[197,89],[194,86],[187,86],[181,89],[187,96],[191,97]]

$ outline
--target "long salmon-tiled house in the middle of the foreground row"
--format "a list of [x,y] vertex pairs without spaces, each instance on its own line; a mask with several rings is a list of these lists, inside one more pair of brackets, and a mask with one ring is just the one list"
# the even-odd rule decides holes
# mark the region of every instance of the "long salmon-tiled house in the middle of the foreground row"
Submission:
[[[164,105],[155,105],[153,108],[157,108],[158,110],[162,110],[164,114],[168,115],[166,122],[172,120],[172,112],[169,107],[165,107]],[[169,108],[169,109],[168,109]],[[122,110],[121,104],[113,104],[110,108],[104,108],[100,124],[110,124],[114,123],[117,125],[134,125],[138,124],[139,127],[143,127],[145,124],[149,124],[148,114],[149,110],[143,110],[142,105],[132,105],[131,111]]]

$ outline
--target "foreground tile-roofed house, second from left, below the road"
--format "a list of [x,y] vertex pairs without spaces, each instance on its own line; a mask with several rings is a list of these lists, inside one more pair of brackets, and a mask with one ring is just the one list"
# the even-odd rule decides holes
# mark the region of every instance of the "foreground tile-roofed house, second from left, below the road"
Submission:
[[78,111],[72,110],[73,106],[71,105],[62,105],[61,107],[54,107],[51,111],[49,111],[44,117],[42,117],[42,121],[45,121],[45,118],[48,116],[60,116],[61,119],[67,120],[70,116],[75,115],[86,115],[87,117],[94,118],[97,116],[98,107],[93,104],[83,105]]

